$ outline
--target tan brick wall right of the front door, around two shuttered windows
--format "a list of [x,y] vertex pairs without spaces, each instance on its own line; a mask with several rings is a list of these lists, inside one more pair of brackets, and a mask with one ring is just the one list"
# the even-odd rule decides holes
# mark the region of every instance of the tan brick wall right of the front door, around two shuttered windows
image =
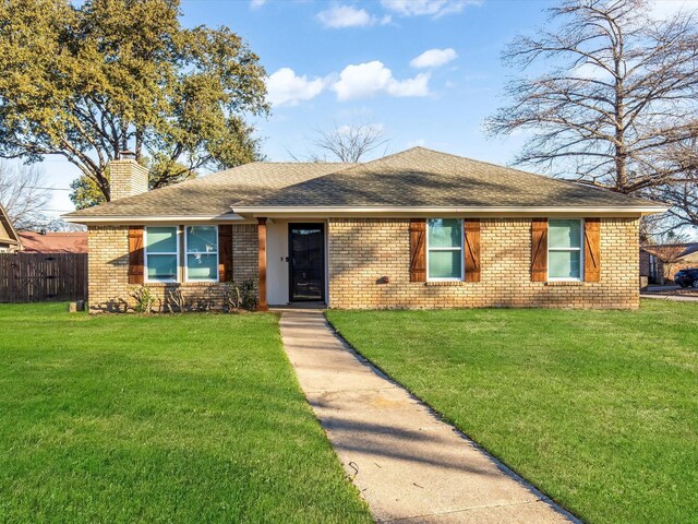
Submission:
[[[531,221],[481,222],[481,282],[409,282],[408,219],[328,221],[332,308],[639,307],[638,225],[635,218],[601,222],[601,282],[530,279]],[[388,276],[388,284],[378,279]]]

